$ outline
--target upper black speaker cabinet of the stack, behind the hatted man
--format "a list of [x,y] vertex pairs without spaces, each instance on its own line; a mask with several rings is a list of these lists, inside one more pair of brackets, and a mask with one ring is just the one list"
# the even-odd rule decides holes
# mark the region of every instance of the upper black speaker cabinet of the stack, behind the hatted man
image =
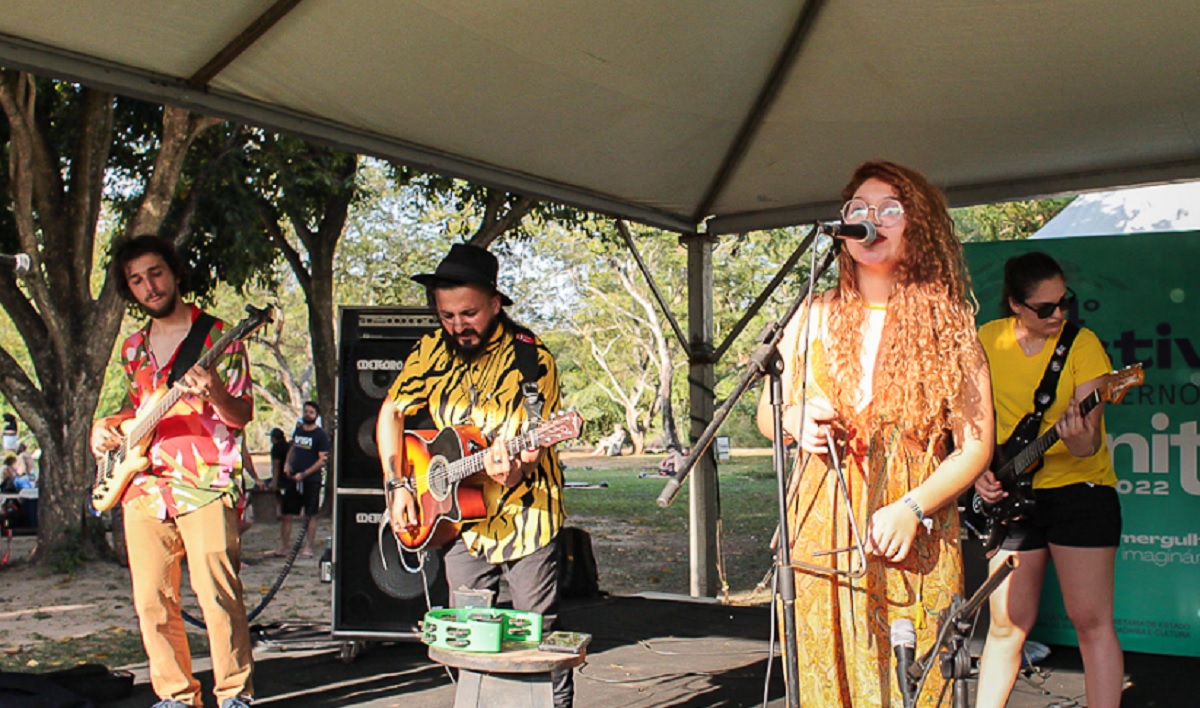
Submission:
[[[374,439],[379,404],[413,346],[438,320],[425,307],[343,307],[340,322],[334,486],[379,490],[383,473]],[[406,425],[430,427],[427,420]]]

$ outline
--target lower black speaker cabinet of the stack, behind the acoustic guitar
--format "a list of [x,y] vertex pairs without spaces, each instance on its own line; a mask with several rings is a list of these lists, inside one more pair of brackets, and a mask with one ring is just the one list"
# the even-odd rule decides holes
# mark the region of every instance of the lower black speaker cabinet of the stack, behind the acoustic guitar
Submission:
[[383,492],[340,493],[334,508],[335,637],[415,638],[431,607],[446,607],[449,592],[438,552],[420,558],[397,550],[384,518]]

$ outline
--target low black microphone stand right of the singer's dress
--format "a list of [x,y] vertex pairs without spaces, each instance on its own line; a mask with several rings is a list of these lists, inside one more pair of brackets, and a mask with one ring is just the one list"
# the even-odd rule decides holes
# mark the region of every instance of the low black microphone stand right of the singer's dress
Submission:
[[937,654],[942,677],[954,682],[954,708],[968,708],[970,695],[966,679],[971,676],[971,652],[967,647],[971,625],[976,613],[983,607],[984,600],[1000,587],[1000,583],[1004,582],[1009,574],[1016,570],[1019,563],[1015,553],[1009,556],[996,569],[996,572],[988,576],[988,580],[979,586],[971,599],[964,602],[961,595],[954,595],[950,600],[949,611],[937,631],[937,644],[908,667],[907,688],[912,689],[913,704],[916,704],[917,696],[920,695],[920,689],[925,684],[925,674],[929,673],[934,662],[934,655]]

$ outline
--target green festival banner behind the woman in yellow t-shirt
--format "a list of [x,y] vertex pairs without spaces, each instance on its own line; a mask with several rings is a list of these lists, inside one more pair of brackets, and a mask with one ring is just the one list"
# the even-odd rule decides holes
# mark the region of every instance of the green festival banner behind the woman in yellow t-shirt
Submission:
[[[1200,656],[1200,233],[970,244],[979,324],[998,317],[1004,262],[1028,251],[1062,264],[1079,296],[1072,319],[1099,336],[1114,367],[1146,371],[1142,386],[1105,408],[1123,518],[1121,646]],[[1052,572],[1033,638],[1076,643]]]

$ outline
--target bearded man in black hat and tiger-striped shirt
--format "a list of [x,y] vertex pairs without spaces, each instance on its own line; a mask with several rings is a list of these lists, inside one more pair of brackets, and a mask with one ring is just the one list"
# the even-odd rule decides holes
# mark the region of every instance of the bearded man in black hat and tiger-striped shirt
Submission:
[[[377,442],[394,529],[420,526],[412,491],[397,469],[404,416],[425,408],[439,428],[473,425],[491,445],[484,455],[485,516],[462,524],[444,563],[451,590],[509,583],[515,610],[541,613],[550,631],[558,613],[558,532],[563,469],[554,449],[510,455],[505,440],[559,406],[558,368],[550,350],[504,312],[512,301],[496,286],[488,251],[455,244],[426,287],[442,328],[404,361],[379,410]],[[535,400],[538,401],[535,403]],[[570,706],[571,672],[554,676],[554,704]]]

